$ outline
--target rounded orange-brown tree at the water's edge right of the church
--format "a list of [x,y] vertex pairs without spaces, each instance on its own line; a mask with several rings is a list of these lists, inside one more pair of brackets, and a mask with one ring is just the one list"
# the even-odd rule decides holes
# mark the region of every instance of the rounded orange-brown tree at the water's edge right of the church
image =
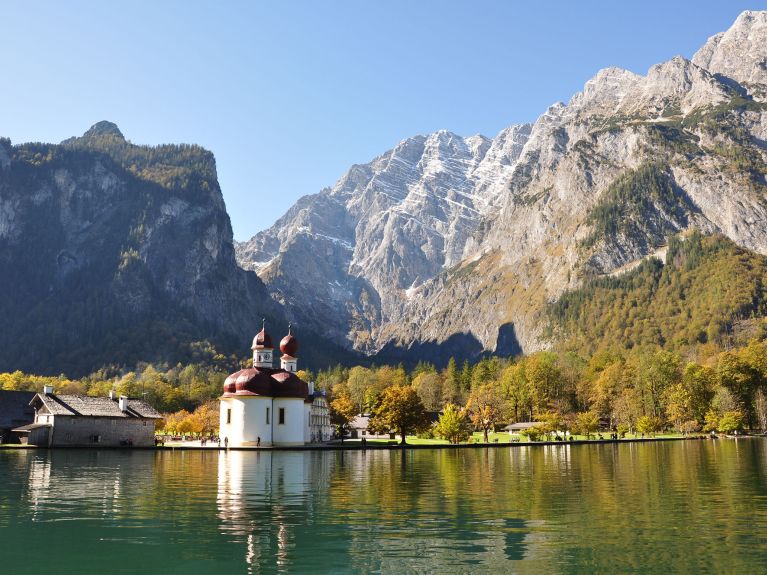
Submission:
[[383,391],[368,423],[374,433],[399,433],[405,445],[408,433],[418,433],[429,427],[426,410],[415,389],[395,385]]

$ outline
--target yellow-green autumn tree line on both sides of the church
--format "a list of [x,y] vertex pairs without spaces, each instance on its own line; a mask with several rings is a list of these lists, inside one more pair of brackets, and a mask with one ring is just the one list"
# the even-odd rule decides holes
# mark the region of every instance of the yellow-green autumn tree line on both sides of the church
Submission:
[[[210,421],[215,416],[210,412],[217,409],[210,402],[220,396],[226,375],[201,365],[147,364],[118,377],[97,372],[79,380],[2,373],[0,387],[41,391],[53,385],[59,394],[93,396],[115,390],[144,398],[161,413],[177,414],[166,419],[169,431],[213,432]],[[451,359],[444,369],[428,362],[412,370],[402,365],[338,365],[299,375],[326,392],[341,428],[358,414],[373,414],[371,430],[430,430],[455,441],[472,430],[487,439],[500,425],[524,421],[541,422],[541,433],[548,427],[550,432],[568,429],[585,435],[600,426],[622,433],[767,430],[767,339],[729,350],[699,346],[694,354],[658,347],[600,351],[590,357],[541,351],[516,359],[488,357],[475,364]],[[207,419],[195,417],[207,423],[201,426],[192,418],[192,423],[174,427],[173,422],[194,415],[200,406],[207,406]],[[433,430],[426,412],[442,414]]]

